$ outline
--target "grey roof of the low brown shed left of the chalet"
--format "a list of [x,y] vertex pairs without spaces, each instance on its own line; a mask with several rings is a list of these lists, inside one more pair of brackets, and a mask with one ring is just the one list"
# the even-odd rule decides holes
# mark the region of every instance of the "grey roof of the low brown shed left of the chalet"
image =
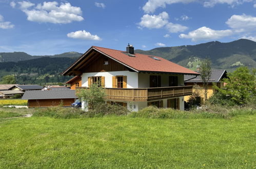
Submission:
[[23,100],[77,98],[75,90],[31,90],[26,91]]

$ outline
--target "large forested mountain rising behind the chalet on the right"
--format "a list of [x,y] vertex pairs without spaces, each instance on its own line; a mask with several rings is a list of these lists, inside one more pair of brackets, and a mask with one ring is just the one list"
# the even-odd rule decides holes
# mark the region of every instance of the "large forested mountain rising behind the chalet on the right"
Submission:
[[136,53],[161,56],[176,64],[195,70],[202,59],[209,57],[213,69],[234,70],[239,66],[256,68],[256,42],[239,39],[230,43],[211,41],[199,45],[135,50]]

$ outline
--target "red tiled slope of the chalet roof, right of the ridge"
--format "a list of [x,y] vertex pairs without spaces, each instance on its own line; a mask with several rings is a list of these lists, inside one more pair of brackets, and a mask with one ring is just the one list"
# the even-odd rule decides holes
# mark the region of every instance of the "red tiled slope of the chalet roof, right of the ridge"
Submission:
[[180,65],[166,60],[162,57],[153,56],[160,60],[151,58],[152,55],[145,55],[140,53],[134,53],[135,57],[128,56],[125,51],[119,51],[114,49],[102,48],[92,46],[92,48],[122,62],[124,65],[131,67],[138,72],[166,72],[166,73],[182,73],[182,74],[196,74],[199,73],[191,71]]

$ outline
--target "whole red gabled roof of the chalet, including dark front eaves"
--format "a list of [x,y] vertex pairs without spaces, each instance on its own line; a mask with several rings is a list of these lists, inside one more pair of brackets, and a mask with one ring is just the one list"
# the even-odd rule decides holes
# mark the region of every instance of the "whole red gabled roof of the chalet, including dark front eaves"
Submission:
[[[70,71],[72,71],[72,69],[77,66],[80,61],[85,59],[88,56],[87,54],[90,53],[92,50],[97,53],[101,53],[138,73],[152,72],[199,75],[199,73],[197,72],[174,64],[173,62],[159,56],[151,56],[140,53],[134,53],[133,56],[129,56],[125,51],[96,46],[92,46],[85,54],[78,58],[74,62],[74,64],[72,64],[67,70],[65,70],[62,75],[67,75]],[[154,59],[153,57],[156,59]]]

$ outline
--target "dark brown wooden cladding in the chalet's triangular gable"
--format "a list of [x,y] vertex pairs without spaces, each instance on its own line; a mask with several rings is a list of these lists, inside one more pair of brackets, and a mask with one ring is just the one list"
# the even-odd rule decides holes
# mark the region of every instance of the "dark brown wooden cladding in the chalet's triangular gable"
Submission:
[[[104,65],[104,62],[108,60],[108,64]],[[94,55],[93,58],[88,60],[88,64],[85,64],[80,68],[82,72],[112,72],[112,71],[126,71],[126,67],[119,62],[104,56],[103,54]]]

